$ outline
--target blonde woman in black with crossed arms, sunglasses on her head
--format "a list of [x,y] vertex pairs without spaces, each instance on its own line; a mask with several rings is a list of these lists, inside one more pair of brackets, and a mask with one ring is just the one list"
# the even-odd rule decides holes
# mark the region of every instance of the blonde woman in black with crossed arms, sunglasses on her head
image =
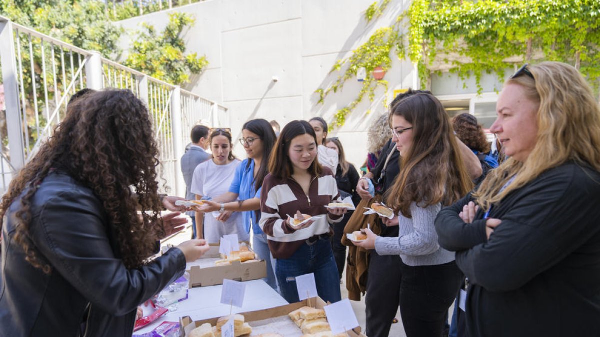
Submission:
[[467,276],[468,336],[598,336],[600,107],[571,65],[505,82],[496,134],[508,159],[436,219]]

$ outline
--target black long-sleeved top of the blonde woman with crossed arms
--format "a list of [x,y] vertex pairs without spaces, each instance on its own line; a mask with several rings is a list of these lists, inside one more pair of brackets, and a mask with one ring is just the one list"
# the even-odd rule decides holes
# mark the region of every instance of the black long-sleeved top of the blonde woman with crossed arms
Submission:
[[600,173],[565,163],[484,212],[459,217],[471,195],[436,218],[439,243],[469,278],[467,331],[485,336],[600,335]]

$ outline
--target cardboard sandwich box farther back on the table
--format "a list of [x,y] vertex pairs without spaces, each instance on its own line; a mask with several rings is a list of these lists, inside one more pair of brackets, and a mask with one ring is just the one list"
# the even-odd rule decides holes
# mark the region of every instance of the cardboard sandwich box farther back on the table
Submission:
[[[202,258],[219,258],[218,243],[209,243],[210,248],[202,255]],[[187,270],[190,273],[190,288],[207,287],[209,285],[223,284],[223,279],[235,281],[248,281],[266,277],[266,262],[259,260],[254,262],[240,263],[232,261],[230,266],[200,267],[191,266]]]

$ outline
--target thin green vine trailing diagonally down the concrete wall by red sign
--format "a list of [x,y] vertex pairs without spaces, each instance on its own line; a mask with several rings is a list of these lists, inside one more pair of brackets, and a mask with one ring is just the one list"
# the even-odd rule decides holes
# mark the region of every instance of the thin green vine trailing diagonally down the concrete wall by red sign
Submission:
[[[373,102],[375,98],[375,90],[378,86],[383,86],[387,90],[388,82],[385,80],[375,80],[371,76],[371,71],[375,67],[382,67],[388,70],[391,67],[392,60],[390,58],[392,50],[396,50],[398,55],[403,55],[404,49],[402,40],[395,27],[384,27],[377,29],[373,35],[361,46],[353,50],[349,58],[341,59],[335,62],[329,73],[334,71],[342,71],[343,74],[337,77],[335,82],[326,89],[319,88],[315,92],[319,94],[319,103],[323,103],[325,97],[331,92],[341,90],[347,80],[352,79],[359,68],[367,70],[367,77],[362,82],[362,88],[355,100],[348,106],[343,107],[335,113],[334,124],[337,126],[343,125],[346,121],[346,116],[361,103],[362,99],[367,95],[369,101]],[[387,104],[384,100],[384,106]]]

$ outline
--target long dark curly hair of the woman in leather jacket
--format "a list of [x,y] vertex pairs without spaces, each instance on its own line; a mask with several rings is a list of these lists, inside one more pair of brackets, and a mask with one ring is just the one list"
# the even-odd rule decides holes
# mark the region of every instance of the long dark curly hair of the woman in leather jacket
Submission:
[[[62,171],[94,191],[116,233],[119,251],[115,254],[128,269],[139,267],[154,251],[155,241],[164,236],[157,158],[148,110],[131,91],[86,94],[67,106],[53,136],[10,183],[0,204],[0,219],[22,195],[14,215],[14,239],[32,266],[49,273],[52,268],[29,239],[31,202],[44,178],[53,170]],[[136,212],[138,205],[141,215]]]

